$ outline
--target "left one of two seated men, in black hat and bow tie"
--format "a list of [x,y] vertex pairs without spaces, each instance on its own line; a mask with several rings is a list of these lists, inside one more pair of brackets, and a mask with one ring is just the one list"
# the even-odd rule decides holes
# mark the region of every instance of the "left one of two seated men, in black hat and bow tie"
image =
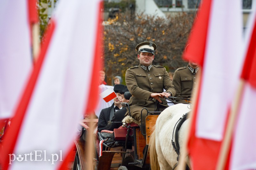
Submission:
[[99,120],[98,120],[98,131],[102,131],[106,129],[106,126],[108,124],[108,121],[111,120],[117,110],[122,109],[122,103],[121,98],[122,95],[119,93],[119,91],[122,91],[124,88],[123,84],[116,84],[114,86],[114,91],[117,95],[117,97],[114,98],[114,103],[112,106],[102,109],[100,112]]

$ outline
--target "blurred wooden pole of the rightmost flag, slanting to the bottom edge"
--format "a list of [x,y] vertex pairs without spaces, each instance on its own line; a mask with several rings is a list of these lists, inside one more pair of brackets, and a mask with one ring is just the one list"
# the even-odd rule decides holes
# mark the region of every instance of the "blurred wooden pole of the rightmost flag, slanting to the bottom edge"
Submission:
[[230,115],[228,117],[228,122],[227,122],[227,129],[225,131],[225,135],[224,138],[222,140],[222,144],[220,146],[220,154],[219,154],[219,158],[217,161],[217,170],[222,170],[225,168],[226,165],[226,161],[227,161],[227,155],[230,149],[230,144],[231,144],[231,138],[232,138],[232,134],[233,134],[233,128],[235,125],[235,121],[236,121],[236,117],[237,117],[237,111],[238,111],[238,107],[239,107],[239,101],[242,97],[242,92],[244,89],[244,80],[240,80],[239,81],[239,86],[237,89],[237,93],[236,93],[236,97],[234,100],[234,103],[231,106],[231,111],[230,111]]

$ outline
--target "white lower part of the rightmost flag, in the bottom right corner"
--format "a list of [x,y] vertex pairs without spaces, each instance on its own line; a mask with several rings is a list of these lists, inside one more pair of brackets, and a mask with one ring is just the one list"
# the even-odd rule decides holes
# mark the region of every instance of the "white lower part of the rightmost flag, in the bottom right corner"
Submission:
[[255,169],[256,167],[255,97],[256,89],[246,82],[231,151],[230,169],[233,170]]

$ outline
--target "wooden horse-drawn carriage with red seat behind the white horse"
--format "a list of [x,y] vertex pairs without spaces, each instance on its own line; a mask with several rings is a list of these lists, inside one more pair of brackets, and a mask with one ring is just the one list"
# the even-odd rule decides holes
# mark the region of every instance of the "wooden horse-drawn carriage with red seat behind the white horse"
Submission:
[[[88,148],[86,145],[89,143],[88,132],[90,130],[94,131],[93,137],[90,138],[90,140],[93,140],[94,145],[94,152],[92,153],[93,164],[91,169],[150,169],[148,153],[149,138],[152,131],[155,129],[156,120],[159,114],[160,112],[154,112],[153,115],[148,115],[146,117],[146,134],[141,133],[140,126],[134,123],[124,124],[118,129],[114,129],[114,131],[103,130],[98,133],[98,119],[82,120],[80,138],[75,142],[76,156],[73,169],[86,169],[86,166],[88,166],[86,165],[86,148]],[[183,114],[181,114],[181,116]],[[176,124],[176,122],[174,124]],[[169,134],[171,135],[172,133]],[[174,151],[171,142],[170,145],[171,147],[169,147],[168,150],[170,150],[171,153]],[[177,161],[176,158],[177,156],[174,158]]]

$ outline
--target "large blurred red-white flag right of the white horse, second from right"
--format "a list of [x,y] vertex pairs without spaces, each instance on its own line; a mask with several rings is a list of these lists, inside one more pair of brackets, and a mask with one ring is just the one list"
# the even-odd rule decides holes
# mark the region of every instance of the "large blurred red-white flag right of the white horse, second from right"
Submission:
[[188,141],[192,169],[216,167],[243,62],[241,9],[240,1],[203,1],[188,39],[184,58],[202,68]]

